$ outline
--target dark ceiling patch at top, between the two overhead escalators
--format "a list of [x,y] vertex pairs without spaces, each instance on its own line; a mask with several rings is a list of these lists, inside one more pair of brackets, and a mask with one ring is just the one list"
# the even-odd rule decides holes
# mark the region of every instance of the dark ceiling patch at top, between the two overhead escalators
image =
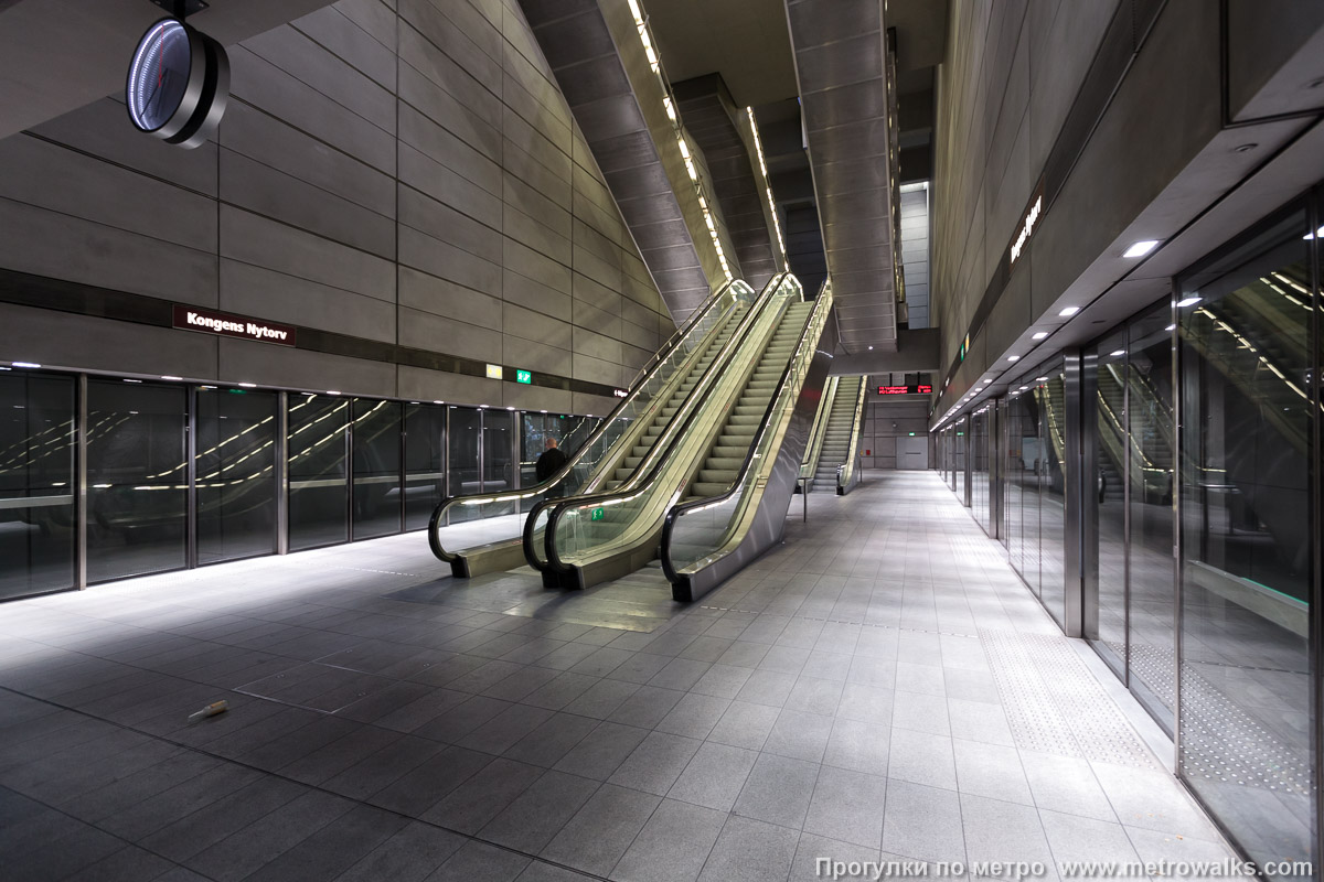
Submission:
[[642,5],[671,82],[720,73],[741,107],[797,95],[782,0],[651,0]]

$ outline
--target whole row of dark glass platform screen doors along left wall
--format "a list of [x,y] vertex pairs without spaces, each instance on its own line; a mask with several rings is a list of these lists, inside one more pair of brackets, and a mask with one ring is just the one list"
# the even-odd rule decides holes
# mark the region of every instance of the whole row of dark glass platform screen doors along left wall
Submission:
[[0,600],[78,586],[81,413],[89,584],[273,554],[282,501],[294,551],[425,529],[448,495],[531,483],[544,438],[573,454],[602,422],[138,378],[78,389],[0,366]]

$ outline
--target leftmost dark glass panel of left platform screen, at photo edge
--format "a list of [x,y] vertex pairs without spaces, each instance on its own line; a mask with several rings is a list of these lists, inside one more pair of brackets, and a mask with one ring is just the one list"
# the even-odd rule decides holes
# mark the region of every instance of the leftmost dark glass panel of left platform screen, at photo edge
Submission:
[[0,374],[0,599],[74,583],[74,382]]

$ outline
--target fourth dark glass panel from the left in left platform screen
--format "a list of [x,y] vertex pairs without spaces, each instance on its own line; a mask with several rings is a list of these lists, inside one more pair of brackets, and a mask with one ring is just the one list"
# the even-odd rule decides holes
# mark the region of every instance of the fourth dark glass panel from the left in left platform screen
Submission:
[[299,394],[289,402],[290,550],[344,542],[350,538],[350,402]]

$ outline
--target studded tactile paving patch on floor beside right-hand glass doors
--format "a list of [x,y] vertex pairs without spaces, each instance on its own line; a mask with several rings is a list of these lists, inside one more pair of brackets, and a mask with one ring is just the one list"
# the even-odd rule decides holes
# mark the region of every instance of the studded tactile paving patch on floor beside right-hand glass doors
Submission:
[[1018,747],[1119,766],[1156,764],[1062,637],[980,631],[980,641]]

